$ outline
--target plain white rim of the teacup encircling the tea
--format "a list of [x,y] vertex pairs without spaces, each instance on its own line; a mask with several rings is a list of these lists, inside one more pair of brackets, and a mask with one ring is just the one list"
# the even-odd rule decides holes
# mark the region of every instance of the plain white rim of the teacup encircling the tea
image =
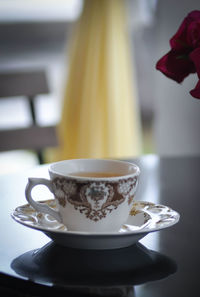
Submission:
[[[59,173],[58,171],[56,171],[53,167],[61,164],[63,162],[68,162],[68,161],[81,161],[81,160],[85,160],[85,161],[108,161],[108,162],[112,162],[112,163],[125,163],[127,165],[131,165],[132,167],[134,167],[134,172],[133,173],[129,173],[129,174],[124,174],[124,175],[120,175],[120,176],[113,176],[113,177],[88,177],[88,176],[73,176],[70,174],[62,174]],[[54,162],[51,163],[49,166],[49,173],[53,173],[56,176],[60,176],[63,178],[68,178],[68,179],[72,179],[72,180],[79,180],[79,181],[118,181],[118,180],[123,180],[123,179],[128,179],[134,176],[139,176],[140,175],[140,168],[138,165],[136,165],[135,163],[129,162],[129,161],[123,161],[123,160],[116,160],[116,159],[101,159],[101,158],[80,158],[80,159],[67,159],[67,160],[62,160],[62,161],[58,161],[58,162]]]

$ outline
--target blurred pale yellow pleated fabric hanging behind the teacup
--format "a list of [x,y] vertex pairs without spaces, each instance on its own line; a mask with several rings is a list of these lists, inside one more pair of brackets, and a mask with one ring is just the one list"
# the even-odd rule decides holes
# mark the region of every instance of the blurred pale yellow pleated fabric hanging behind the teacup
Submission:
[[[124,0],[85,0],[73,32],[56,160],[141,153]],[[54,160],[55,161],[55,160]]]

